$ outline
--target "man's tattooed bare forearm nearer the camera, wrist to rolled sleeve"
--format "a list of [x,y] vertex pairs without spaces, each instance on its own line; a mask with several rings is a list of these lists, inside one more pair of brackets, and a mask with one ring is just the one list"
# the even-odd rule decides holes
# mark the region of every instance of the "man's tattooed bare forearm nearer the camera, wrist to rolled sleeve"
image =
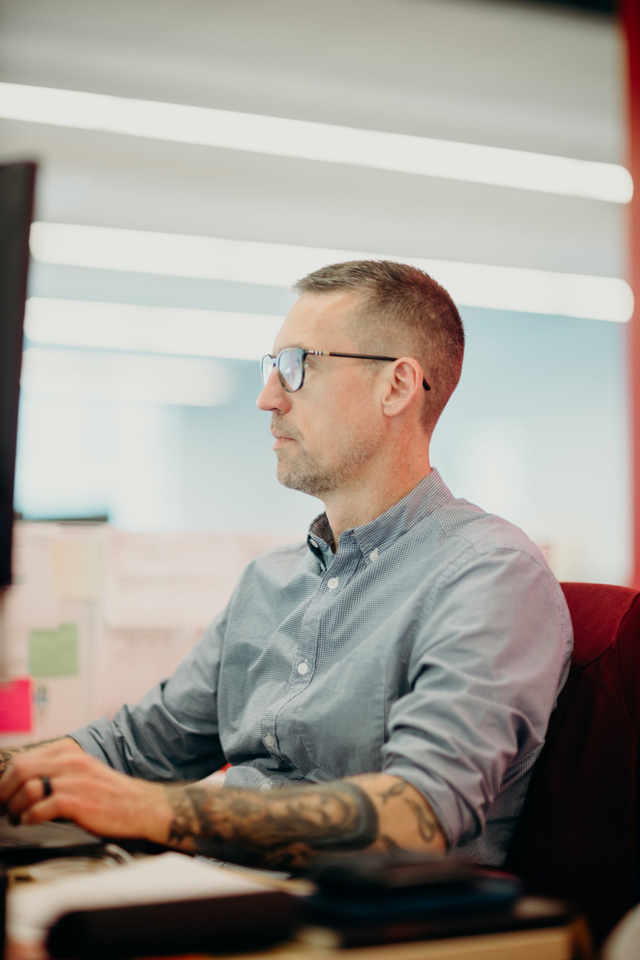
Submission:
[[164,790],[167,819],[158,839],[239,863],[291,870],[320,853],[446,850],[431,806],[411,783],[391,774],[268,793],[203,783]]

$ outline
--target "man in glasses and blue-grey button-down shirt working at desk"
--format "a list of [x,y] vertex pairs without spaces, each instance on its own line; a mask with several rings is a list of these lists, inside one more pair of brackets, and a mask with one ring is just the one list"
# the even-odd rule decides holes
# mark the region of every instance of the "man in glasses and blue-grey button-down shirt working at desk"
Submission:
[[[462,370],[446,291],[386,261],[295,289],[257,403],[279,482],[325,513],[249,564],[137,707],[8,752],[0,804],[273,867],[396,848],[500,864],[568,670],[562,593],[431,468]],[[225,761],[224,788],[184,782]]]

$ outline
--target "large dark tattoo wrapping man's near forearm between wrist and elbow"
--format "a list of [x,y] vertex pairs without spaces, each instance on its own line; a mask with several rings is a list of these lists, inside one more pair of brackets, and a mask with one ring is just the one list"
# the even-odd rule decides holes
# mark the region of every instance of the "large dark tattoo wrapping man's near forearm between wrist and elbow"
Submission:
[[273,793],[167,786],[169,843],[268,867],[303,867],[320,851],[364,850],[378,816],[367,793],[344,781]]

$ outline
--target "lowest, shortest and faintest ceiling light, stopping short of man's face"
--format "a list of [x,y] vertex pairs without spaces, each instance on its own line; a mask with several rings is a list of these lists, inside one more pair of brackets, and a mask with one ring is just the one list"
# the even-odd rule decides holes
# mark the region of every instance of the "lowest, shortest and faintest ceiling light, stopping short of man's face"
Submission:
[[215,360],[28,348],[20,385],[31,396],[211,407],[227,402],[232,380]]

